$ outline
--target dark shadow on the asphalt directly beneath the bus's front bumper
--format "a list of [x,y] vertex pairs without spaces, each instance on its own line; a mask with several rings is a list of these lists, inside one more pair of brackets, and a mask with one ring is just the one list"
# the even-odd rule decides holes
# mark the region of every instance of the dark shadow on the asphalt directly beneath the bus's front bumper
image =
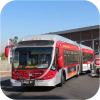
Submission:
[[55,87],[12,87],[10,86],[10,80],[7,79],[0,82],[0,88],[11,92],[46,92],[53,90]]

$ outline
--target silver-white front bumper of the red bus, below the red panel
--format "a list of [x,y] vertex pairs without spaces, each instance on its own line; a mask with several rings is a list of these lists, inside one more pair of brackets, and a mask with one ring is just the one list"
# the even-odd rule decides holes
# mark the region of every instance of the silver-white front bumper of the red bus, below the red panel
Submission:
[[[33,81],[33,80],[32,80]],[[15,79],[10,78],[11,86],[55,86],[56,85],[56,77],[48,80],[35,80],[34,83],[30,81],[17,81]]]

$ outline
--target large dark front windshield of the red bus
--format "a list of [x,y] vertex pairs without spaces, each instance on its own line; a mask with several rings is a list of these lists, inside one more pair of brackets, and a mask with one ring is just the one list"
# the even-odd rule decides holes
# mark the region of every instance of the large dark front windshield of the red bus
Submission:
[[13,58],[15,69],[47,69],[51,63],[53,47],[16,48]]

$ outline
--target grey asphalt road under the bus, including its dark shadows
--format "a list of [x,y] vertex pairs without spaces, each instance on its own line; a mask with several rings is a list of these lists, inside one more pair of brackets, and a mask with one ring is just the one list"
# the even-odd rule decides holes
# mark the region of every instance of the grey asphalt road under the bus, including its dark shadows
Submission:
[[[2,93],[11,100],[88,100],[100,89],[100,77],[82,74],[66,81],[63,87],[11,87],[9,77],[0,78]],[[95,100],[95,99],[94,99]]]

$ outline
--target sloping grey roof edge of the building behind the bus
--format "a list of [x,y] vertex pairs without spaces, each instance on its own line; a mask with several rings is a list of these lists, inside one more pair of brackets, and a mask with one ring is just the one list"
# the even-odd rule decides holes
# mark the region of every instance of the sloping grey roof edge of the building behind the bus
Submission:
[[76,29],[64,30],[64,31],[58,31],[58,32],[50,32],[46,34],[65,34],[65,33],[81,32],[81,31],[88,31],[88,30],[94,30],[94,29],[100,29],[100,25],[76,28]]

